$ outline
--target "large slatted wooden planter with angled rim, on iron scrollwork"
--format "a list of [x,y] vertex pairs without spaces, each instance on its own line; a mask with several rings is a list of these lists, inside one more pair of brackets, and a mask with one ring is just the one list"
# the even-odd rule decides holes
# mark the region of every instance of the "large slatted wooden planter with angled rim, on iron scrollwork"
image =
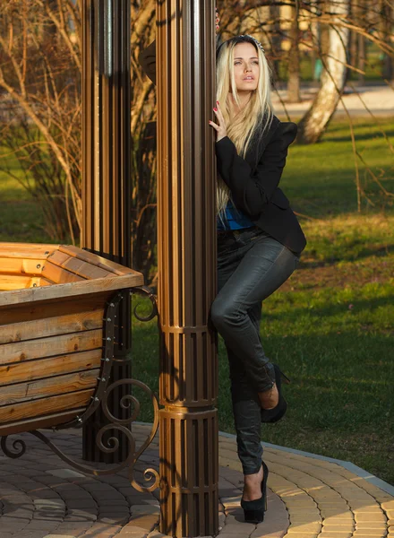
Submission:
[[0,437],[86,411],[107,302],[141,285],[141,273],[81,248],[0,243]]

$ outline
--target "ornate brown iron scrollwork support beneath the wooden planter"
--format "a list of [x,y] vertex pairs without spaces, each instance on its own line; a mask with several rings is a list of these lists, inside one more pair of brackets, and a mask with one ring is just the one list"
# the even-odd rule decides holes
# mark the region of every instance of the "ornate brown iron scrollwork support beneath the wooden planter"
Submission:
[[[141,317],[137,314],[136,309],[134,308],[134,315],[137,317],[139,321],[150,321],[153,319],[157,313],[157,306],[156,306],[156,300],[153,295],[153,293],[150,291],[149,288],[146,286],[131,288],[130,290],[126,291],[127,294],[132,295],[133,293],[137,293],[139,295],[145,295],[148,296],[150,299],[152,310],[147,317]],[[110,469],[94,469],[90,465],[81,464],[79,462],[76,462],[71,458],[70,456],[67,456],[64,454],[62,450],[60,450],[59,447],[56,447],[56,444],[51,441],[51,439],[47,438],[47,436],[42,433],[39,430],[33,430],[29,433],[31,435],[34,435],[36,438],[39,438],[41,441],[43,441],[47,447],[49,447],[57,456],[59,456],[65,463],[71,465],[74,469],[77,469],[78,471],[81,471],[82,473],[94,475],[94,476],[104,476],[108,474],[115,474],[124,469],[125,467],[129,468],[129,479],[133,487],[141,492],[150,492],[158,488],[159,485],[159,475],[156,469],[149,468],[143,471],[143,475],[146,482],[152,482],[150,485],[144,486],[141,485],[139,482],[136,482],[134,479],[134,468],[135,464],[138,462],[138,459],[140,458],[143,451],[150,446],[150,443],[152,439],[155,437],[157,431],[158,431],[158,397],[155,395],[149,388],[149,386],[146,386],[141,381],[138,381],[137,379],[132,378],[125,378],[120,379],[111,385],[108,386],[108,379],[110,377],[110,371],[112,368],[112,365],[115,361],[122,361],[124,359],[115,359],[114,358],[114,321],[116,319],[116,311],[119,308],[120,302],[125,298],[125,291],[121,291],[116,293],[116,295],[107,303],[107,309],[104,317],[104,345],[103,345],[103,358],[102,358],[102,366],[100,371],[100,377],[98,379],[98,387],[96,390],[95,395],[92,397],[92,401],[90,405],[88,406],[86,412],[83,413],[81,417],[76,417],[73,421],[67,422],[65,424],[62,424],[60,426],[56,426],[53,428],[53,430],[64,430],[67,428],[81,428],[83,423],[91,416],[93,412],[95,412],[99,405],[102,406],[102,410],[104,414],[107,417],[108,423],[103,426],[97,435],[96,442],[99,447],[99,449],[107,454],[116,452],[116,450],[119,447],[119,441],[116,437],[109,437],[106,439],[106,444],[104,444],[103,437],[107,431],[122,431],[124,433],[124,436],[127,438],[127,441],[129,443],[129,453],[126,459],[121,464],[116,464],[116,466],[112,466]],[[137,398],[132,395],[124,395],[120,401],[120,406],[123,409],[131,409],[133,406],[133,412],[130,417],[126,419],[118,419],[112,412],[109,411],[108,407],[108,396],[111,394],[111,392],[118,386],[122,385],[129,385],[129,386],[137,386],[141,388],[145,394],[147,394],[150,397],[151,404],[153,405],[154,410],[154,421],[152,424],[152,428],[150,430],[150,434],[145,439],[145,441],[142,443],[141,447],[137,450],[136,449],[136,442],[133,438],[133,432],[129,429],[129,427],[133,424],[134,421],[136,421],[141,405],[140,402],[137,400]],[[22,439],[16,439],[13,440],[13,450],[10,449],[10,447],[7,446],[9,436],[4,436],[0,439],[0,447],[2,448],[4,455],[11,457],[13,459],[23,456],[23,454],[26,452],[26,443]]]

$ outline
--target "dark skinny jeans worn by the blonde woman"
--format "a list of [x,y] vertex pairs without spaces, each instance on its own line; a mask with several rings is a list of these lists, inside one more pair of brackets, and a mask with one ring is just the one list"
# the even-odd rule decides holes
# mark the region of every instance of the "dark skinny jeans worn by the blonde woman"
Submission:
[[261,468],[261,404],[275,374],[260,339],[261,303],[286,282],[299,256],[258,228],[218,234],[218,295],[210,315],[230,367],[238,456],[244,474]]

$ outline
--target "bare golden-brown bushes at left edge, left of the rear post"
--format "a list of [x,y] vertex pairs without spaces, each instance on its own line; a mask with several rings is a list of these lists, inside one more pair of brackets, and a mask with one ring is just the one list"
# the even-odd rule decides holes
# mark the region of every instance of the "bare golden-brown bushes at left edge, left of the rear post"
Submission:
[[[81,223],[79,56],[69,5],[11,0],[0,7],[1,167],[12,152],[46,216],[53,239],[71,238]],[[8,121],[5,121],[8,120]]]

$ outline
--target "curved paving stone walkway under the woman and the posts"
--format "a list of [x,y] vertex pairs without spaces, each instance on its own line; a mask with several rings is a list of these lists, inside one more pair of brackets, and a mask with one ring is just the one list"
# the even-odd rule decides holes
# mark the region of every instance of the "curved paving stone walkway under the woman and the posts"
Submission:
[[[133,426],[137,442],[149,430],[149,425]],[[48,437],[79,459],[81,430]],[[0,538],[164,536],[157,530],[158,491],[134,490],[126,471],[99,478],[77,473],[38,439],[18,438],[27,443],[26,454],[0,456]],[[220,538],[394,537],[394,497],[387,490],[330,461],[271,446],[264,455],[270,468],[268,511],[262,524],[245,524],[236,441],[220,435]],[[141,456],[138,482],[147,467],[158,468],[158,438]]]

